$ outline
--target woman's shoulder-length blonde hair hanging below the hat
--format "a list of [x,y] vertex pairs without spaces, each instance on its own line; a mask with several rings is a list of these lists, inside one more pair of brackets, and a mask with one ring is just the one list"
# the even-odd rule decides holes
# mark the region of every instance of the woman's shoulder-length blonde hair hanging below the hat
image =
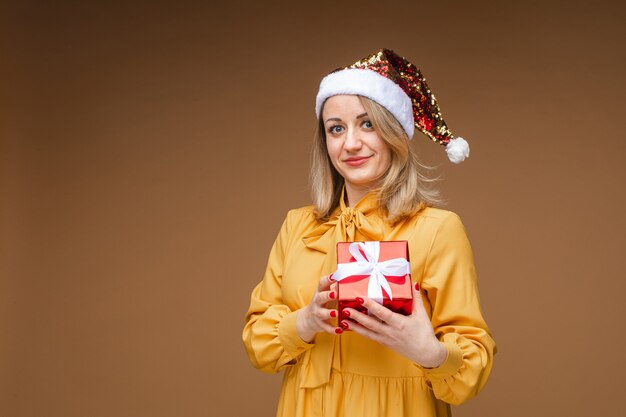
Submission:
[[[391,164],[376,190],[378,205],[387,221],[396,224],[426,206],[442,204],[439,192],[431,186],[435,180],[420,172],[431,168],[419,161],[417,151],[409,144],[400,123],[380,104],[358,97],[374,129],[391,151]],[[327,220],[339,205],[344,179],[328,156],[322,113],[323,107],[314,135],[310,179],[315,215],[320,220]]]

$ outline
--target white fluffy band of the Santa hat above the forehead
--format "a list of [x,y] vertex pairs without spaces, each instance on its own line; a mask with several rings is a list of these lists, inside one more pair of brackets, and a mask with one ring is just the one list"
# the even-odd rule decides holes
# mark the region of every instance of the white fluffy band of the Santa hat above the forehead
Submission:
[[389,78],[375,71],[355,68],[328,74],[322,79],[315,100],[315,114],[318,118],[326,99],[340,94],[358,94],[374,100],[393,114],[409,139],[413,137],[415,122],[411,99]]

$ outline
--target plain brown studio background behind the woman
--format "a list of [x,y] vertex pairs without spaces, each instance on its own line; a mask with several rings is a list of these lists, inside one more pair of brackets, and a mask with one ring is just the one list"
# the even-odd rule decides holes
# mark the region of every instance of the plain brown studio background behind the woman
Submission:
[[308,204],[319,80],[422,67],[499,344],[456,416],[624,413],[620,2],[2,3],[0,415],[273,415],[249,293]]

